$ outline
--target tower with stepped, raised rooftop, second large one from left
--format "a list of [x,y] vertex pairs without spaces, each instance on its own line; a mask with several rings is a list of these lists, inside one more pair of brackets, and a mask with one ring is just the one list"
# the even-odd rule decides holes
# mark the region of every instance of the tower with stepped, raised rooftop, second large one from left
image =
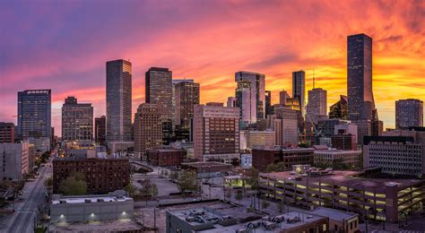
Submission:
[[93,139],[93,107],[79,104],[68,96],[62,106],[62,140],[91,141]]

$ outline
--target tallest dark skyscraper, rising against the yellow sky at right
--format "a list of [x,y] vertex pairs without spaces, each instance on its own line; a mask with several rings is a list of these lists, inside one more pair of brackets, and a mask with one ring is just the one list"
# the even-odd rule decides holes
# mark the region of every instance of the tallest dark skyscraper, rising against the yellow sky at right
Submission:
[[375,109],[372,92],[372,39],[365,34],[347,38],[348,119],[371,120]]

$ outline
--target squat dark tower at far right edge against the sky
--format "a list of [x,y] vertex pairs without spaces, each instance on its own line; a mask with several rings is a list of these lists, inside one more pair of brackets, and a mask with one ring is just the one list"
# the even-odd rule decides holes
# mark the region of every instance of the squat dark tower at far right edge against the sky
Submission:
[[395,101],[395,128],[423,126],[423,101],[400,99]]

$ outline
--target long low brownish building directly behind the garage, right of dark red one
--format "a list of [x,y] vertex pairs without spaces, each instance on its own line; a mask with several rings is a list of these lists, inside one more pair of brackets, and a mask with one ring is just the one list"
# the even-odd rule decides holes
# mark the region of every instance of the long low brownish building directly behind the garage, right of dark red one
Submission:
[[330,168],[360,168],[361,151],[317,150],[315,166]]

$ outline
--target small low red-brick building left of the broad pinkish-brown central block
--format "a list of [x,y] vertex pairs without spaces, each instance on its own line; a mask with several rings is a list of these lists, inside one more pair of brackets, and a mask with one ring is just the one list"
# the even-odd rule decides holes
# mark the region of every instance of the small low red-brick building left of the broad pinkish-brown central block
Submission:
[[153,166],[179,167],[183,162],[185,151],[176,149],[161,149],[147,151],[147,160]]

